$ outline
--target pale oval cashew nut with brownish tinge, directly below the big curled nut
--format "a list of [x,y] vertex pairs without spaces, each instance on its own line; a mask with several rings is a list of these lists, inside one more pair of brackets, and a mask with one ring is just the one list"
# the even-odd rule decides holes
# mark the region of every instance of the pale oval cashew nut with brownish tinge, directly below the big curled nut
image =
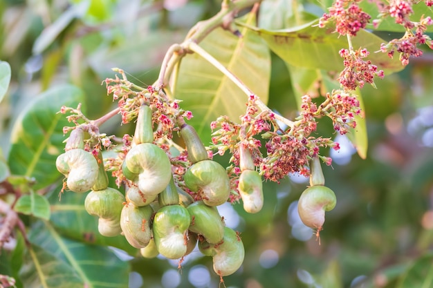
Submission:
[[126,204],[120,214],[120,227],[132,247],[144,248],[151,239],[150,219],[154,211],[150,206]]

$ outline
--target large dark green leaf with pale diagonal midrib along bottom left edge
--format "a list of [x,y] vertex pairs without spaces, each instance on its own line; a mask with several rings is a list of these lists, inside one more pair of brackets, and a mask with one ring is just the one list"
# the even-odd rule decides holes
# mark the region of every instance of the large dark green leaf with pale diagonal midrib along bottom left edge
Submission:
[[[35,224],[29,239],[42,250],[30,250],[31,262],[22,272],[33,282],[26,287],[75,287],[75,283],[89,288],[128,287],[128,263],[107,247],[64,238],[48,222]],[[43,285],[54,277],[52,284]]]

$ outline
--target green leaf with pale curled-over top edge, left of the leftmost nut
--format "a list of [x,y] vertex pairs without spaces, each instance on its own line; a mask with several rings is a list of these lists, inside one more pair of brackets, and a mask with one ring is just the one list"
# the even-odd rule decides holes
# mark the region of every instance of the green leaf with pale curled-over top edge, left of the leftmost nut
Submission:
[[10,172],[35,177],[35,189],[53,184],[60,177],[55,160],[64,150],[63,127],[71,126],[65,115],[57,112],[62,105],[75,107],[82,101],[82,90],[66,84],[35,97],[12,128]]

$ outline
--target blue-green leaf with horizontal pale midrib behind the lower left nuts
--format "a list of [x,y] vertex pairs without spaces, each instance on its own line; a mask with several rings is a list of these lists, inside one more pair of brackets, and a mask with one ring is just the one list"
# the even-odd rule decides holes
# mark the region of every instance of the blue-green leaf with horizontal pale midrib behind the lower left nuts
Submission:
[[98,217],[89,215],[84,209],[86,193],[73,193],[67,191],[59,198],[58,187],[48,198],[51,207],[51,224],[59,233],[71,239],[89,244],[112,246],[127,253],[137,253],[124,236],[104,237],[98,231]]

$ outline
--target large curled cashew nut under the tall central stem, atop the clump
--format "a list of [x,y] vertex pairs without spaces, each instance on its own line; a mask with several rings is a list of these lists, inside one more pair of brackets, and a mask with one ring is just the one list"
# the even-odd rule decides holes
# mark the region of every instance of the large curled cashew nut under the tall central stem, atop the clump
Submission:
[[172,179],[172,166],[163,149],[151,143],[138,144],[125,157],[129,180],[138,178],[138,189],[145,195],[163,191]]

